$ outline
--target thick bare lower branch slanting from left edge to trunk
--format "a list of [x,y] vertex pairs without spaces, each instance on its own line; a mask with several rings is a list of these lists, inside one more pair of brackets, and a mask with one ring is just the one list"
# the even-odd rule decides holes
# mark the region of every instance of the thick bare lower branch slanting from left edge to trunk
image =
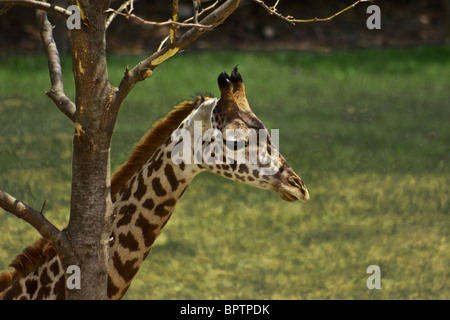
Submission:
[[10,194],[0,189],[0,207],[25,220],[32,225],[45,239],[52,243],[58,243],[63,238],[63,233],[48,221],[42,212],[39,212],[26,203],[17,200]]

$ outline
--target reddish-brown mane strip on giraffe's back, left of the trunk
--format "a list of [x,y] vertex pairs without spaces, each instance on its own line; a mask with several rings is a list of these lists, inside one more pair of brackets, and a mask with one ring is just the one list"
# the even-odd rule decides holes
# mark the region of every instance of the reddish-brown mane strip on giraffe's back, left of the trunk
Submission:
[[44,238],[23,249],[22,253],[9,264],[14,270],[0,272],[0,293],[55,254],[51,244]]

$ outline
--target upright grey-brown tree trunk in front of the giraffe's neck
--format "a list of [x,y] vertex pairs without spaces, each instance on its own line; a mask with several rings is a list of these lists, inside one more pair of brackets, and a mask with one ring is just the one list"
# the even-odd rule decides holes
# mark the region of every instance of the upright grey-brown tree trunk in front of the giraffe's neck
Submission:
[[77,112],[66,232],[80,267],[81,290],[66,289],[66,298],[107,299],[107,228],[113,210],[110,142],[116,120],[116,114],[108,112],[113,89],[106,65],[104,12],[109,2],[79,3],[84,19],[81,29],[71,32]]

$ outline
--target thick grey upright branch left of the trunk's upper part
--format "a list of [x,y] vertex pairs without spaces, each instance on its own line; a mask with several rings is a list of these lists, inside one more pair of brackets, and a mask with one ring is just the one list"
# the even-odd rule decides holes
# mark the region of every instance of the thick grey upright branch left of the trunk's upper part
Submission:
[[72,122],[75,122],[76,107],[64,93],[61,61],[55,40],[53,39],[53,27],[50,21],[48,21],[47,12],[37,10],[37,20],[40,26],[42,44],[48,57],[48,69],[52,84],[52,88],[46,94],[53,100],[59,110],[72,120]]

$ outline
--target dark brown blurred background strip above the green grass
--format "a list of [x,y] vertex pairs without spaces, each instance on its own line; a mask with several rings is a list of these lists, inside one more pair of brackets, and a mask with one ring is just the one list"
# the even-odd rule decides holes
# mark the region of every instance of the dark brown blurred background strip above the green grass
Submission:
[[[120,6],[115,1],[113,6]],[[273,5],[275,1],[266,1]],[[67,1],[54,1],[67,7]],[[204,3],[207,6],[212,2]],[[351,5],[348,0],[283,0],[278,12],[297,19],[325,18]],[[450,39],[450,1],[448,0],[377,0],[381,9],[381,30],[368,30],[365,21],[370,2],[355,8],[329,22],[299,23],[292,27],[269,15],[257,3],[247,0],[226,23],[214,32],[206,33],[189,47],[242,50],[320,50],[360,48],[367,46],[410,46],[437,44]],[[171,6],[165,1],[136,1],[135,14],[152,21],[166,21],[171,17]],[[180,20],[192,16],[192,1],[180,0]],[[54,23],[64,23],[58,18]],[[0,54],[13,52],[40,52],[39,31],[35,26],[34,11],[13,7],[0,19]],[[64,28],[55,29],[55,37],[64,52]],[[144,27],[118,17],[108,29],[108,47],[115,53],[144,53],[155,50],[168,34],[166,27]]]

